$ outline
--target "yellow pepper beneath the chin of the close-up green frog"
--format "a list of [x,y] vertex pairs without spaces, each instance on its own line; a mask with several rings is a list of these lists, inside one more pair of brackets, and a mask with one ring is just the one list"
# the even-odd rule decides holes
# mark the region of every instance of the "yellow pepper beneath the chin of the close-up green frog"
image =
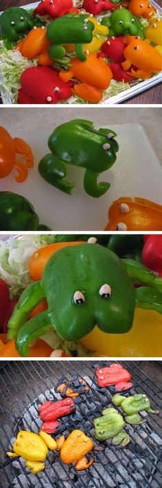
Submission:
[[152,310],[136,309],[130,332],[106,334],[98,327],[82,338],[84,347],[95,351],[95,356],[159,357],[162,343],[162,316]]

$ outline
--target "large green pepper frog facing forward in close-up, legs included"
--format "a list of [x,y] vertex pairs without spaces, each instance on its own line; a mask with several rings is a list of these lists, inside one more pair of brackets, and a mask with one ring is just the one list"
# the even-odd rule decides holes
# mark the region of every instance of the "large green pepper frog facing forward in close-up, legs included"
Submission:
[[[147,286],[135,288],[132,282]],[[45,265],[41,281],[19,298],[8,339],[16,337],[19,354],[26,356],[30,342],[53,327],[64,340],[79,340],[95,325],[123,334],[132,327],[136,306],[162,314],[161,291],[162,278],[135,260],[120,260],[106,247],[91,242],[62,247]],[[47,310],[27,321],[44,298]]]

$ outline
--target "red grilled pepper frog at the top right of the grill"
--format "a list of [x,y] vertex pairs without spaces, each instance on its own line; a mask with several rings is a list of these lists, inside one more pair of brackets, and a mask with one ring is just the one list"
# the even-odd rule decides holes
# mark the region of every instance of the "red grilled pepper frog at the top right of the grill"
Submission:
[[96,369],[97,383],[100,387],[115,385],[115,390],[121,392],[122,389],[130,389],[132,383],[128,383],[130,373],[122,365],[111,364],[108,367]]

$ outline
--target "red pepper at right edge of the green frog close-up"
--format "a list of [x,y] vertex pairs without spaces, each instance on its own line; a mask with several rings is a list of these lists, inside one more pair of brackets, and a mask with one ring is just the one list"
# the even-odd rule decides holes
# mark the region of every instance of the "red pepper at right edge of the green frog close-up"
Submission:
[[142,252],[143,265],[162,276],[162,235],[143,236],[145,244]]

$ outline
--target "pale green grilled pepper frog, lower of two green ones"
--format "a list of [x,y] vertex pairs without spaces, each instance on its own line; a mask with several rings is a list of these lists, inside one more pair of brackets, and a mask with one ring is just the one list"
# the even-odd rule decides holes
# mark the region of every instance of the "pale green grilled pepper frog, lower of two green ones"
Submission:
[[124,418],[115,408],[102,410],[102,417],[93,420],[95,438],[97,440],[113,439],[113,445],[125,447],[130,442],[130,436],[122,431],[125,426]]

